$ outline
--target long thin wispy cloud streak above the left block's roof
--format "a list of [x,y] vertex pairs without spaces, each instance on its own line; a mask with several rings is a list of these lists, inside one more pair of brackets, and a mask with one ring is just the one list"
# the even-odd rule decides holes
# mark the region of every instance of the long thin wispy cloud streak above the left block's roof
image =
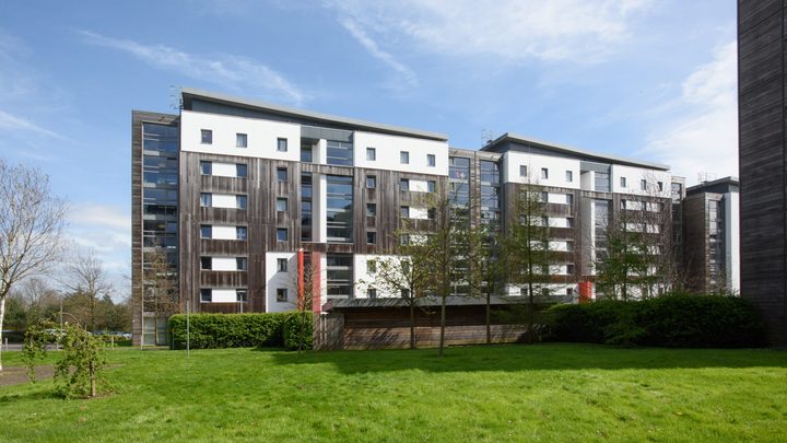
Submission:
[[160,68],[179,72],[200,81],[234,88],[248,95],[274,96],[295,105],[308,97],[295,84],[267,66],[242,56],[218,55],[208,57],[184,53],[165,45],[144,45],[130,39],[106,37],[90,31],[79,32],[94,45],[121,50]]

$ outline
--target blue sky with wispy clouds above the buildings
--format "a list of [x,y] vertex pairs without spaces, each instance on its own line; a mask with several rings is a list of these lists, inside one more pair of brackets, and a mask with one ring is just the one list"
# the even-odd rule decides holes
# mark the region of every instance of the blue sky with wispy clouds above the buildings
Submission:
[[119,292],[131,109],[177,88],[738,175],[733,0],[7,1],[0,156],[71,202]]

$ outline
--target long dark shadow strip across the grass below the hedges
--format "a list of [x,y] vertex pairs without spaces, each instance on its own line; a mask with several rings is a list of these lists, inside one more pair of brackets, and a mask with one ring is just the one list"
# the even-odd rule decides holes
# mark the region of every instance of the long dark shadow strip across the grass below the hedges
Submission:
[[332,364],[342,373],[421,370],[554,371],[703,368],[787,369],[787,352],[767,349],[614,348],[601,345],[497,345],[374,351],[274,352],[280,364]]

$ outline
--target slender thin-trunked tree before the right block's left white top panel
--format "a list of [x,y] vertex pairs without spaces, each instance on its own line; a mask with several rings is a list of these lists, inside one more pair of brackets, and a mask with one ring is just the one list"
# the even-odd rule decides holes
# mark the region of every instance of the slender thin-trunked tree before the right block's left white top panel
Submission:
[[514,205],[506,226],[502,257],[507,263],[508,283],[527,289],[528,341],[533,342],[536,290],[549,293],[552,273],[549,217],[543,188],[524,185]]

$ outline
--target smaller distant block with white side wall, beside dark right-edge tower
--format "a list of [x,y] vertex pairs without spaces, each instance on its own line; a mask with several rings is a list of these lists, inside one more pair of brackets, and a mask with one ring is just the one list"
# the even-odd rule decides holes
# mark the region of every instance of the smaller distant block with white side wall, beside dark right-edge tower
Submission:
[[735,177],[686,189],[683,199],[683,263],[688,289],[740,291],[739,185]]

